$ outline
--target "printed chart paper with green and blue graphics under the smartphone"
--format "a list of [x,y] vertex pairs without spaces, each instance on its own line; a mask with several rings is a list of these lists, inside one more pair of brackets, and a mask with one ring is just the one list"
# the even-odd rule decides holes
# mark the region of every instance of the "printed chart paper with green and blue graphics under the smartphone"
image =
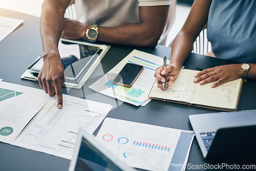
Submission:
[[[121,71],[127,62],[144,66],[144,70],[131,88],[118,86],[113,83],[113,79],[117,76],[117,74]],[[96,92],[117,98],[136,106],[145,106],[149,102],[146,100],[148,100],[148,94],[150,93],[152,85],[155,81],[154,73],[156,69],[162,65],[162,62],[162,58],[158,56],[138,50],[133,50],[112,70],[110,70],[98,81],[89,86],[89,88]],[[145,101],[146,103],[143,103]]]

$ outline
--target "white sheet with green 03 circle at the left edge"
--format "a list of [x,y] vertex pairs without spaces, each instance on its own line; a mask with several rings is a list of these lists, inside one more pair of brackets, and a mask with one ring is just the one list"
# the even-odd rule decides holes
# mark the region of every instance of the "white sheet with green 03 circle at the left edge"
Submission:
[[0,82],[0,141],[12,143],[50,97],[39,89]]

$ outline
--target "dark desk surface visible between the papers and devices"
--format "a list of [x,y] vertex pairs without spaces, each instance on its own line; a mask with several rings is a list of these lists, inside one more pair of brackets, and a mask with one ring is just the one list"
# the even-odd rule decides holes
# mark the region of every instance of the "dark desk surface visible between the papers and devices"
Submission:
[[[30,65],[30,63],[32,63],[42,52],[39,34],[39,18],[1,8],[0,15],[25,19],[22,25],[20,25],[16,30],[14,30],[13,33],[0,42],[0,78],[4,79],[6,82],[39,89],[40,87],[37,82],[20,79],[20,75],[24,73],[28,65]],[[114,107],[107,117],[183,130],[192,130],[188,120],[188,115],[218,112],[216,110],[197,108],[157,100],[152,100],[144,108],[141,106],[136,107],[132,104],[123,103],[122,101],[114,98],[95,93],[93,90],[88,88],[88,86],[96,81],[101,75],[111,70],[133,49],[134,48],[132,47],[112,46],[109,52],[106,53],[102,59],[101,65],[96,68],[95,72],[84,84],[82,89],[77,90],[63,88],[63,93],[90,100],[110,103]],[[170,56],[170,48],[160,45],[158,45],[156,48],[137,49],[158,56]],[[191,54],[184,65],[188,69],[196,70],[196,67],[205,69],[228,63],[231,62]],[[256,109],[255,87],[255,80],[248,80],[248,82],[244,83],[239,102],[239,111]],[[95,134],[98,132],[98,130],[99,128],[96,130]],[[245,164],[249,161],[250,160],[230,161],[230,164],[238,162]],[[66,159],[0,142],[0,170],[67,170],[69,167],[69,162],[70,161]],[[188,163],[208,163],[203,159],[196,139],[192,144]]]

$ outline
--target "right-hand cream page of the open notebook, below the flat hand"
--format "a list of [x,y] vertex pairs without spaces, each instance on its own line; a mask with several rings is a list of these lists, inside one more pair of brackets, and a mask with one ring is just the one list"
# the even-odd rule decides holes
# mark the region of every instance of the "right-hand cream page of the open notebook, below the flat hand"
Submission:
[[192,103],[216,108],[236,109],[242,78],[225,82],[216,88],[210,87],[212,83],[200,85],[195,92]]

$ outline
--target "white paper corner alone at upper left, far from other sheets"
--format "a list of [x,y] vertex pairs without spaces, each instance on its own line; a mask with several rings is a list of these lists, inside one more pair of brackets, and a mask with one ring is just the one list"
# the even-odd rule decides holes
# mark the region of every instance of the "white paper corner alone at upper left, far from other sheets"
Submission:
[[9,18],[0,15],[0,41],[13,32],[23,21],[23,19]]

